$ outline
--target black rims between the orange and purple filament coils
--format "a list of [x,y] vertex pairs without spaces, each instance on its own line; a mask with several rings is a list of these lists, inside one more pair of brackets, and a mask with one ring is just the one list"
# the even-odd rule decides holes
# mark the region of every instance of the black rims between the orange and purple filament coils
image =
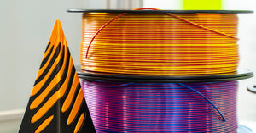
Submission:
[[[78,68],[78,67],[77,67]],[[212,82],[212,81],[231,81],[244,80],[253,77],[253,71],[250,69],[240,69],[231,74],[219,75],[119,75],[81,72],[77,69],[79,78],[85,80],[112,80],[129,82]]]

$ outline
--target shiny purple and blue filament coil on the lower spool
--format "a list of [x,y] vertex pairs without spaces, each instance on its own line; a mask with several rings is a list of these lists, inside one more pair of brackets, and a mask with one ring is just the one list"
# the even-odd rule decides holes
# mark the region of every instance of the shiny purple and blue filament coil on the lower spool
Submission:
[[237,84],[82,80],[98,133],[235,133]]

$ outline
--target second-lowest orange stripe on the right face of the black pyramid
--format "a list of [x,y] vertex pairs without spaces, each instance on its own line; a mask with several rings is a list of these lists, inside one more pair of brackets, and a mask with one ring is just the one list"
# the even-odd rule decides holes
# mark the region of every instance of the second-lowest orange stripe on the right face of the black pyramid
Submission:
[[83,102],[83,99],[84,99],[84,94],[82,92],[82,89],[79,89],[79,94],[78,94],[76,101],[73,104],[73,108],[68,116],[67,125],[70,125],[73,122],[73,119],[75,119],[75,117],[77,116],[77,114],[79,112],[79,108]]

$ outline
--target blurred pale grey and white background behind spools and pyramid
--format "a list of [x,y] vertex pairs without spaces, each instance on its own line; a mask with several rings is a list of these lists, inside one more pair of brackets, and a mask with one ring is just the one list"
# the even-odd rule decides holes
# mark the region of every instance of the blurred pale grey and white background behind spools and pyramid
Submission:
[[[256,10],[253,0],[223,0],[223,9]],[[0,133],[17,132],[55,19],[61,20],[75,65],[79,65],[81,15],[68,8],[183,9],[182,0],[8,0],[0,1]],[[239,14],[241,68],[256,72],[256,14]],[[256,78],[241,80],[238,117],[256,127],[256,94],[247,91]],[[254,130],[254,129],[253,129]],[[256,132],[256,130],[255,130]]]

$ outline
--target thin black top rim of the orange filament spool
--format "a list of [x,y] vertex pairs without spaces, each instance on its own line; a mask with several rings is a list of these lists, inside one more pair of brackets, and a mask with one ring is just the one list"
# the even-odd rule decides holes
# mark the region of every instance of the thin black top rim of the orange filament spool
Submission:
[[249,14],[253,10],[119,10],[119,9],[67,9],[70,13],[131,13],[131,14]]

